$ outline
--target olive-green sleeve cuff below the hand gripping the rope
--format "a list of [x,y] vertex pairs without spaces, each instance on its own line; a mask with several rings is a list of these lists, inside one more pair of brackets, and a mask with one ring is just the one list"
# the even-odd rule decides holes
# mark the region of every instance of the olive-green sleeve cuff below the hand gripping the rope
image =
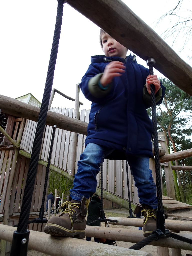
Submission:
[[[165,96],[165,90],[166,90],[166,88],[162,85],[162,82],[161,82],[161,87],[158,90],[158,92],[155,94],[156,106],[162,103],[163,98]],[[147,91],[146,84],[143,88],[143,100],[144,100],[146,108],[151,108],[151,95]]]

